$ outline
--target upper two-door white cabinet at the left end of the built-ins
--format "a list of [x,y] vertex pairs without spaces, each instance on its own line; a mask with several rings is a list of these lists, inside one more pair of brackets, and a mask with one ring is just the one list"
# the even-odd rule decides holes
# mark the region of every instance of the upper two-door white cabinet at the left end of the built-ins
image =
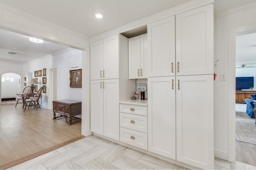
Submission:
[[90,80],[119,78],[119,35],[90,43]]

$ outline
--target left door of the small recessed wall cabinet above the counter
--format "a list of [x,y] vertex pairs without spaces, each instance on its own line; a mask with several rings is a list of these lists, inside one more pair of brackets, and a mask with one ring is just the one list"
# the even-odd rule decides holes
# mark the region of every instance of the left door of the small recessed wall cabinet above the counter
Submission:
[[129,78],[140,78],[140,35],[128,40]]

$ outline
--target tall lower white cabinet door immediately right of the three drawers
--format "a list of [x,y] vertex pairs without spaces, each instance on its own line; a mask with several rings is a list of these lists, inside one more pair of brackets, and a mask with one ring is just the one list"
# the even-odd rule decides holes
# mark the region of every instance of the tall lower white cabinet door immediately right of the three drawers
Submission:
[[175,76],[148,78],[148,150],[176,159]]

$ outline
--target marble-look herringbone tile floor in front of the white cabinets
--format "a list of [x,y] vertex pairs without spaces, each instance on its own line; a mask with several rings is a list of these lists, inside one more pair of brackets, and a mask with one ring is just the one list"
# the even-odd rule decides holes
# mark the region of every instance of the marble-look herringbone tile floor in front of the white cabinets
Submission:
[[[91,135],[10,169],[187,169],[117,143]],[[214,169],[255,169],[241,162],[216,158]]]

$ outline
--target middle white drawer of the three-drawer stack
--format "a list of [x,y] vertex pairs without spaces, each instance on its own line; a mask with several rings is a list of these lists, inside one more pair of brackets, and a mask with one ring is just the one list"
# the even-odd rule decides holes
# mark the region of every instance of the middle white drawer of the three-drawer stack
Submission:
[[146,116],[120,113],[120,127],[148,132],[148,120]]

